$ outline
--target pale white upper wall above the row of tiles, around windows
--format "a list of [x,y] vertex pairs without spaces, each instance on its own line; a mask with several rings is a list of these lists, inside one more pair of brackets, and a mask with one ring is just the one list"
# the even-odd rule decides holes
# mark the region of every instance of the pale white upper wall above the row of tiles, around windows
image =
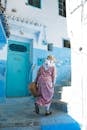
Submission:
[[[68,39],[66,19],[58,15],[57,0],[42,0],[41,9],[26,5],[27,0],[8,0],[7,14],[33,19],[47,26],[47,41],[62,47],[62,39]],[[12,12],[16,9],[16,13]]]

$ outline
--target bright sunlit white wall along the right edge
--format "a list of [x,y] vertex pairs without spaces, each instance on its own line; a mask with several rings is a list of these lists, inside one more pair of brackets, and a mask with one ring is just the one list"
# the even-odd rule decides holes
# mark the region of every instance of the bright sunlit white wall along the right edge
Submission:
[[83,124],[87,120],[87,24],[84,24],[87,2],[85,8],[80,5],[81,1],[75,2],[77,3],[72,1],[72,8],[69,0],[67,1],[67,23],[72,52],[72,100],[69,113]]

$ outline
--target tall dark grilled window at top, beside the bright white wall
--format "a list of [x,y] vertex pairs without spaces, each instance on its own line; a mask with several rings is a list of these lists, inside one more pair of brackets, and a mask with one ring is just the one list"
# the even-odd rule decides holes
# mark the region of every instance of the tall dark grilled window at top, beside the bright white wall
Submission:
[[66,17],[66,0],[58,0],[59,15]]

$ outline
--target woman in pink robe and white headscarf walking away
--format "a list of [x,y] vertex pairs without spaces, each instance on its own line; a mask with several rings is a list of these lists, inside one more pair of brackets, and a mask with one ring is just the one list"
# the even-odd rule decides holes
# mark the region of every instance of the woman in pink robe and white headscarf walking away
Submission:
[[35,111],[39,114],[39,105],[46,108],[45,115],[50,115],[50,105],[54,94],[54,84],[56,79],[55,58],[51,55],[47,57],[44,64],[39,68],[36,84],[38,95],[35,102]]

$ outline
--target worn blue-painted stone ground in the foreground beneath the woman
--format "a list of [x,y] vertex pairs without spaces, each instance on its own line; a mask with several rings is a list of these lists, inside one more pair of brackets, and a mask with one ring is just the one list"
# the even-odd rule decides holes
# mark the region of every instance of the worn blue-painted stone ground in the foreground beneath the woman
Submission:
[[53,100],[50,116],[45,116],[44,109],[36,114],[33,102],[32,98],[20,98],[0,104],[0,130],[80,130],[79,124],[66,113],[65,102]]

